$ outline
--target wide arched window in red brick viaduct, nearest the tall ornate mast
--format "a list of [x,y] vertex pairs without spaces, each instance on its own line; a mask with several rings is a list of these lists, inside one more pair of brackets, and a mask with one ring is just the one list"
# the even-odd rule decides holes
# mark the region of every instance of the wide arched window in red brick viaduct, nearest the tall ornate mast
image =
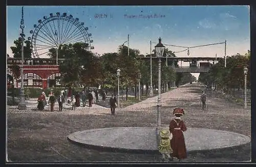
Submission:
[[34,73],[24,74],[24,86],[42,86],[42,78]]

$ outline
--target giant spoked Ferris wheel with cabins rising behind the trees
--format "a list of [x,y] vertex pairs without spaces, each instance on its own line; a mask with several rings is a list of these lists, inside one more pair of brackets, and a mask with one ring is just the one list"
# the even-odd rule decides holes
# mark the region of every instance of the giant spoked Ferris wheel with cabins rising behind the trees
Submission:
[[90,51],[94,46],[91,46],[92,34],[87,31],[84,22],[72,15],[50,13],[50,17],[39,19],[38,25],[34,25],[34,30],[30,31],[32,37],[28,37],[28,40],[31,40],[32,55],[34,58],[47,57],[50,49],[76,42],[85,43],[86,50]]

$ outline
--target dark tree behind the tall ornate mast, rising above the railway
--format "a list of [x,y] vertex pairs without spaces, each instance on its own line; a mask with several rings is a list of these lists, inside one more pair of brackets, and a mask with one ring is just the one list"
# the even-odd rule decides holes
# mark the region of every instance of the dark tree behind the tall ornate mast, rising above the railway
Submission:
[[[18,40],[14,40],[13,42],[15,46],[11,46],[11,50],[14,58],[22,57],[22,39],[18,38]],[[32,47],[31,42],[29,40],[24,41],[25,45],[23,46],[24,50],[24,58],[31,58],[32,55]]]

